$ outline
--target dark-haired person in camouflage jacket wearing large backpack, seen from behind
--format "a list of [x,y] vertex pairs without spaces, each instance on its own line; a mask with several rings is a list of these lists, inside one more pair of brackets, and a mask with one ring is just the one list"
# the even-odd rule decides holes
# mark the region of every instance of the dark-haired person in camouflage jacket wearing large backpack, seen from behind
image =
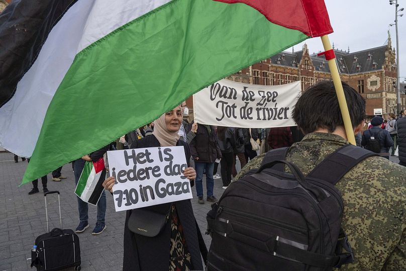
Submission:
[[[365,99],[347,83],[342,82],[342,84],[352,127],[354,134],[356,134],[362,130],[364,125],[366,117]],[[286,174],[280,173],[273,177],[262,178],[272,168],[264,169],[263,174],[256,173],[262,163],[266,162],[264,161],[266,154],[261,154],[249,162],[234,178],[234,181],[218,202],[218,212],[215,215],[215,221],[217,223],[221,219],[224,223],[213,232],[210,250],[214,249],[213,242],[215,240],[226,242],[227,240],[235,240],[237,238],[241,240],[242,238],[245,241],[245,245],[242,247],[237,245],[239,246],[238,249],[228,247],[228,249],[223,249],[222,252],[215,255],[209,251],[208,270],[214,269],[210,268],[211,264],[215,266],[226,264],[230,270],[249,269],[244,268],[244,263],[248,264],[251,261],[259,264],[262,261],[268,260],[278,260],[281,264],[279,266],[268,266],[272,270],[331,270],[332,268],[328,267],[327,262],[324,267],[308,268],[309,266],[299,264],[297,268],[288,268],[288,266],[292,266],[297,262],[311,261],[310,257],[301,257],[304,254],[303,251],[305,253],[312,252],[307,251],[307,249],[311,249],[311,246],[315,247],[315,249],[321,246],[320,241],[306,244],[309,240],[308,238],[314,236],[315,232],[309,233],[309,228],[299,227],[303,223],[303,219],[301,216],[298,216],[298,212],[292,213],[290,217],[292,222],[289,223],[290,225],[287,225],[286,216],[288,213],[290,214],[288,212],[290,210],[289,206],[297,203],[313,205],[313,203],[320,202],[323,199],[331,201],[328,204],[330,211],[326,212],[328,214],[337,215],[337,212],[344,208],[341,228],[348,236],[347,243],[352,247],[354,252],[354,261],[342,265],[340,270],[404,270],[406,266],[406,168],[389,162],[387,159],[379,157],[365,149],[351,145],[347,146],[350,143],[347,140],[344,121],[332,81],[318,82],[303,92],[293,109],[292,118],[305,136],[300,142],[294,143],[291,147],[287,148],[285,160],[293,164],[298,172],[306,176],[306,180],[308,180],[308,174],[316,170],[316,167],[323,161],[330,160],[329,157],[333,153],[336,153],[335,157],[339,155],[341,158],[336,159],[335,163],[331,165],[326,166],[325,164],[322,170],[320,168],[316,170],[322,173],[319,175],[317,182],[316,180],[307,181],[311,182],[312,186],[307,186],[305,180],[304,184],[306,187],[309,190],[313,190],[310,193],[313,200],[309,201],[304,200],[307,197],[306,195],[309,194],[303,193],[304,190],[307,191],[308,189],[298,185],[296,176],[288,174],[287,177],[291,180],[287,181],[283,179],[277,182],[280,177],[286,177]],[[270,152],[274,151],[270,150]],[[351,154],[354,153],[357,155],[352,157]],[[360,156],[360,153],[365,155],[364,157],[366,158],[362,155]],[[351,159],[358,161],[354,167],[344,170],[344,172],[347,172],[343,175],[333,173],[340,167],[343,169],[340,163],[345,164],[346,160]],[[293,166],[291,167],[296,172],[296,169]],[[282,167],[281,170],[289,172],[287,166]],[[250,176],[249,174],[253,175]],[[303,183],[301,176],[297,174],[297,177]],[[247,184],[248,178],[251,178],[252,183],[254,183],[254,178],[262,179],[257,180],[257,184],[262,184],[260,185],[262,188],[255,187],[254,190],[252,185]],[[335,186],[329,184],[332,178],[338,178]],[[239,184],[240,182],[241,184]],[[303,195],[303,198],[300,200],[290,200],[289,197],[286,197],[284,201],[272,201],[272,194],[266,190],[268,186],[265,184],[270,182],[277,183],[286,191],[288,189],[302,191],[301,195]],[[233,198],[234,201],[223,201],[223,199],[231,200],[231,198],[226,198],[227,195],[239,187],[245,193],[244,198],[251,200],[251,202],[258,202],[261,199],[260,196],[267,195],[269,197],[267,201],[268,208],[253,208],[249,204],[238,205],[235,201],[243,200],[242,198]],[[324,187],[324,189],[321,190],[322,192],[320,192],[320,189],[314,191],[316,187]],[[343,206],[337,205],[335,199],[339,198],[339,194],[333,192],[334,188],[340,192]],[[289,195],[287,193],[286,196]],[[222,209],[221,207],[226,204],[233,205],[233,209],[241,207],[245,211],[236,212],[226,208]],[[285,207],[277,208],[276,204],[284,204]],[[316,205],[313,206],[316,208]],[[256,214],[259,212],[262,212],[264,215],[272,213],[278,219],[270,220],[266,216],[257,216]],[[242,213],[249,213],[251,215],[247,218],[243,217]],[[209,215],[210,213],[208,214],[208,221]],[[241,223],[233,223],[235,219],[238,219]],[[255,227],[257,228],[254,228],[254,220],[261,221],[256,224]],[[320,221],[318,222],[317,216],[309,221],[316,224],[321,223]],[[267,225],[274,225],[268,226],[274,230],[272,235],[270,230],[268,230],[269,228],[265,228]],[[326,228],[323,227],[323,230],[326,230]],[[249,234],[253,234],[254,231],[257,236],[250,238]],[[224,232],[224,234],[221,235],[218,232]],[[282,236],[282,232],[289,232],[290,237]],[[345,240],[345,235],[341,236],[340,241]],[[292,239],[296,239],[296,241],[292,242]],[[327,240],[329,242],[339,242],[337,239],[337,235],[335,235],[335,237],[330,237]],[[253,248],[253,246],[257,248]],[[287,247],[289,249],[286,249]],[[230,248],[233,248],[233,251],[230,251]],[[268,252],[267,256],[258,259],[258,257],[263,255],[264,251]],[[284,257],[278,254],[278,252],[284,255],[290,253],[290,258]],[[333,259],[335,255],[335,253],[332,253],[326,256],[326,259]],[[229,261],[230,257],[234,257],[234,261],[231,263]],[[330,263],[335,264],[337,262]],[[235,266],[238,266],[238,268]],[[259,268],[254,267],[253,269]]]

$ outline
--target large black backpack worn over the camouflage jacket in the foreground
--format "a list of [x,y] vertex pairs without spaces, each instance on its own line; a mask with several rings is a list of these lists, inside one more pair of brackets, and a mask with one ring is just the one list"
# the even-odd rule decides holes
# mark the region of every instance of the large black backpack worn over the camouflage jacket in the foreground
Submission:
[[[354,261],[341,228],[343,200],[334,185],[377,154],[345,145],[304,177],[284,161],[287,150],[267,152],[259,169],[233,182],[212,205],[208,270],[321,271]],[[283,172],[284,166],[291,173]]]

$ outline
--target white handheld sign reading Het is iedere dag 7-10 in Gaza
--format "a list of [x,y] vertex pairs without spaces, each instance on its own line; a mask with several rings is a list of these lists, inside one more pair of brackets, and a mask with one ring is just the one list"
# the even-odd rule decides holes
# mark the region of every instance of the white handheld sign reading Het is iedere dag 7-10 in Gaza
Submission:
[[113,198],[117,211],[192,198],[184,149],[154,147],[107,152],[116,178]]

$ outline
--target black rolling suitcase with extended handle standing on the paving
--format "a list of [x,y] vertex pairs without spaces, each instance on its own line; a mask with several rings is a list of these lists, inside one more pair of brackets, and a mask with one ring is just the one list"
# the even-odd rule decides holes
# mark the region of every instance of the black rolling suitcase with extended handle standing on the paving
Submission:
[[[59,221],[61,228],[54,228],[49,231],[47,195],[58,193]],[[35,246],[31,250],[31,267],[37,270],[61,270],[75,266],[75,270],[80,270],[80,246],[79,238],[73,230],[62,229],[61,202],[59,191],[50,191],[44,194],[45,214],[47,221],[47,233],[35,239]]]

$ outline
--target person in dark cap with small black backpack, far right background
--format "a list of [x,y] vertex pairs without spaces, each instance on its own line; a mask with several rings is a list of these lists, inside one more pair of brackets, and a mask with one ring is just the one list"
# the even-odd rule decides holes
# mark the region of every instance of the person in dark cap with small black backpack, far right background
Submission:
[[361,145],[367,150],[380,153],[381,156],[389,159],[389,149],[393,147],[393,140],[389,132],[381,128],[382,123],[381,117],[374,117],[371,120],[372,128],[362,135]]

